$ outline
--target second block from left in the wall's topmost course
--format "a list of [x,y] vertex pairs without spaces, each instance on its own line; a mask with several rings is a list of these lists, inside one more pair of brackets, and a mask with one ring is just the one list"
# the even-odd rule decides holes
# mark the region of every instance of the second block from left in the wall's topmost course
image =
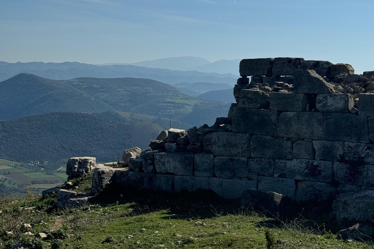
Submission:
[[300,69],[303,58],[279,57],[274,58],[273,74],[274,75],[294,75],[295,71]]

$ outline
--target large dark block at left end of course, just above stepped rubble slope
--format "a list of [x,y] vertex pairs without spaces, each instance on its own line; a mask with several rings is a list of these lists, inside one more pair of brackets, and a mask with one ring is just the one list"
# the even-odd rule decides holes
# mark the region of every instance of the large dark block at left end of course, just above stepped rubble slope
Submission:
[[233,107],[232,130],[235,133],[277,135],[277,110]]

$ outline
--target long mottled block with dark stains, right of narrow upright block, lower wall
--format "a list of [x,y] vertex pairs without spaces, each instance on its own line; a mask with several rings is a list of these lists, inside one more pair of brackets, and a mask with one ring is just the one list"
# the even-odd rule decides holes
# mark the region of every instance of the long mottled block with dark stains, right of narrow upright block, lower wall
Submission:
[[306,159],[287,160],[286,177],[295,180],[331,182],[333,180],[333,163]]

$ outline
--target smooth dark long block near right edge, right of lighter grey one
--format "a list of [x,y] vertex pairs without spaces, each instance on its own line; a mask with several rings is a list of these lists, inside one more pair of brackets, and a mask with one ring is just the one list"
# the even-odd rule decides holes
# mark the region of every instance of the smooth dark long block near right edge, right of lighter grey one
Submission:
[[350,113],[324,113],[323,139],[369,142],[368,118]]

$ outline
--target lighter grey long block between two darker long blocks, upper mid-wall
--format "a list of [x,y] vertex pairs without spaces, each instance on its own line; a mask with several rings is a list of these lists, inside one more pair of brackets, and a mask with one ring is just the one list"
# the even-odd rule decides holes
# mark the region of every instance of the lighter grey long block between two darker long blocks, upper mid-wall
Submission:
[[283,138],[323,139],[323,114],[319,112],[282,112],[277,120],[278,136]]

